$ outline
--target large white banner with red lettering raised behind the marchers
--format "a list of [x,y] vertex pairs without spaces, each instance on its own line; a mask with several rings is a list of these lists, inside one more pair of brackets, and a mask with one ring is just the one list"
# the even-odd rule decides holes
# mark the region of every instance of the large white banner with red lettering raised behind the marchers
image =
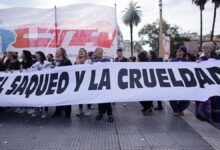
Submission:
[[117,49],[117,24],[114,7],[78,4],[54,9],[0,9],[0,52],[23,49],[55,53],[65,47],[70,57],[79,48],[104,49],[113,56]]

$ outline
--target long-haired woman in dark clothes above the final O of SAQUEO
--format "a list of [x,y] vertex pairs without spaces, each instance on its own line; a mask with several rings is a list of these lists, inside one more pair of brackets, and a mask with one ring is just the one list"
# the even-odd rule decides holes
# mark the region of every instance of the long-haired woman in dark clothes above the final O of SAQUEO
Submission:
[[[62,47],[56,50],[56,67],[70,66],[71,61],[67,58],[66,50]],[[62,111],[65,111],[66,118],[70,118],[71,115],[71,105],[67,106],[57,106],[53,117],[61,116]]]

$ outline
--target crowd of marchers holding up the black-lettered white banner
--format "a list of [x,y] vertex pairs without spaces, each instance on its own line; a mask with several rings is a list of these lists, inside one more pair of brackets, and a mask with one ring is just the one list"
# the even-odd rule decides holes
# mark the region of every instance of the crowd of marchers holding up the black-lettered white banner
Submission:
[[[185,46],[180,46],[176,51],[176,58],[171,59],[172,62],[185,62],[185,61],[205,61],[208,59],[219,59],[219,56],[215,53],[216,46],[212,42],[204,43],[203,45],[203,53],[196,57],[194,55],[188,54]],[[114,59],[114,62],[160,62],[154,51],[141,51],[137,58],[130,57],[129,59],[123,56],[123,50],[121,48],[117,49],[117,57]],[[42,51],[35,52],[34,55],[31,54],[30,51],[23,50],[21,55],[22,61],[19,61],[18,54],[16,52],[7,52],[4,54],[2,58],[0,58],[0,71],[4,72],[13,72],[14,70],[42,70],[47,68],[55,68],[62,66],[70,66],[70,65],[83,65],[83,64],[94,64],[97,62],[105,63],[110,62],[111,60],[107,57],[103,57],[103,49],[97,48],[94,52],[87,52],[86,49],[80,48],[78,51],[78,55],[74,63],[67,57],[66,50],[64,48],[58,48],[56,50],[55,56],[53,54],[45,54]],[[220,102],[218,102],[220,103]],[[96,116],[97,120],[101,120],[103,115],[107,113],[108,121],[113,122],[113,112],[112,105],[114,103],[100,103],[98,104],[98,114]],[[163,105],[161,101],[157,102],[157,106],[153,106],[153,101],[141,101],[141,106],[143,107],[142,113],[143,115],[152,114],[153,110],[161,111],[163,110]],[[171,108],[173,109],[174,115],[182,116],[183,111],[189,106],[189,101],[170,101]],[[200,105],[204,105],[203,102],[196,103],[196,109],[200,107]],[[204,106],[203,106],[204,107]],[[15,111],[16,113],[26,113],[31,115],[32,117],[47,118],[48,117],[48,107],[41,108],[4,108],[6,111]],[[76,116],[90,116],[92,112],[92,104],[86,105],[86,111],[83,112],[83,105],[80,104],[78,106],[78,111]],[[58,106],[52,117],[61,116],[62,112],[65,112],[65,117],[70,118],[71,116],[71,106]],[[198,112],[196,116],[199,119],[204,119],[205,116],[202,115],[202,112]]]

